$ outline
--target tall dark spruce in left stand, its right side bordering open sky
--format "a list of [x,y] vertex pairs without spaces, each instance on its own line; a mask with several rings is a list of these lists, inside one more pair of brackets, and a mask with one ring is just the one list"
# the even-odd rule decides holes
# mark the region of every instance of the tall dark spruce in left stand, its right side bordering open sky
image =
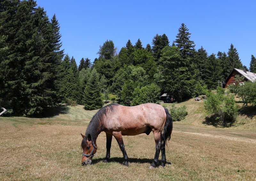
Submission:
[[[29,3],[30,1],[28,1]],[[57,63],[52,59],[52,26],[43,8],[38,7],[33,15],[32,59],[27,59],[25,66],[26,83],[30,92],[25,114],[41,114],[46,108],[58,102],[55,80]]]

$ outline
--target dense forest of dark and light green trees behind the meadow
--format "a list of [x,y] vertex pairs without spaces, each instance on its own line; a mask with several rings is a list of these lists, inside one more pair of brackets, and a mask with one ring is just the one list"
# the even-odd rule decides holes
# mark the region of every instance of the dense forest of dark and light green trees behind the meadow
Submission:
[[[196,50],[183,23],[172,43],[156,34],[152,46],[128,40],[117,52],[112,40],[104,41],[98,58],[85,55],[77,66],[64,54],[55,15],[49,19],[34,0],[1,1],[0,107],[31,116],[72,101],[98,109],[109,95],[125,105],[156,102],[163,93],[182,101],[216,89],[233,68],[246,68],[233,44],[217,55]],[[256,72],[253,55],[250,71]]]

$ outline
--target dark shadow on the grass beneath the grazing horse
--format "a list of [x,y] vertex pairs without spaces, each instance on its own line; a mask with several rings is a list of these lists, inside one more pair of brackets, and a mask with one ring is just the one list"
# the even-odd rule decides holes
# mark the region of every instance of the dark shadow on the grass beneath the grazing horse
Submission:
[[[93,164],[96,164],[96,163],[99,163],[101,161],[103,161],[105,158],[96,158],[96,159],[93,159]],[[110,162],[117,162],[117,163],[120,163],[120,164],[123,164],[124,163],[124,158],[121,158],[121,157],[111,157],[109,160],[108,160],[108,163]],[[153,162],[153,159],[148,159],[148,158],[129,158],[128,160],[128,163],[149,163],[151,164]],[[161,163],[161,160],[158,160],[158,163],[160,164]],[[166,164],[171,164],[171,162],[166,162]]]

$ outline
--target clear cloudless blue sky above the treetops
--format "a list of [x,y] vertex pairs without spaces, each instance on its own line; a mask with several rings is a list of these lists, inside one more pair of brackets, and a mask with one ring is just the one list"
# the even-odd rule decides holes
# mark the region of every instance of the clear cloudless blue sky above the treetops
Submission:
[[91,62],[98,57],[100,45],[113,40],[118,50],[130,39],[134,45],[140,38],[143,47],[153,37],[165,33],[172,44],[181,23],[191,33],[190,40],[208,55],[228,52],[230,44],[249,68],[251,54],[256,56],[256,1],[87,1],[37,0],[51,19],[60,24],[62,48],[74,56]]

